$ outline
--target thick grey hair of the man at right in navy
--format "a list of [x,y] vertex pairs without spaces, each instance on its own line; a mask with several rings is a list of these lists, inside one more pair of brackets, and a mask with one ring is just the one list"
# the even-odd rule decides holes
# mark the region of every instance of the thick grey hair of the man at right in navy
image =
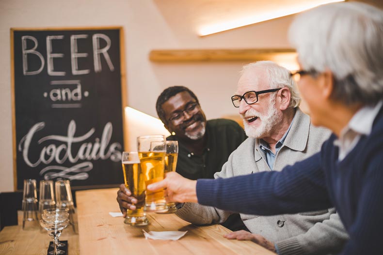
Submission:
[[383,98],[382,10],[361,2],[325,4],[298,15],[288,36],[304,70],[333,73],[333,99],[368,105]]

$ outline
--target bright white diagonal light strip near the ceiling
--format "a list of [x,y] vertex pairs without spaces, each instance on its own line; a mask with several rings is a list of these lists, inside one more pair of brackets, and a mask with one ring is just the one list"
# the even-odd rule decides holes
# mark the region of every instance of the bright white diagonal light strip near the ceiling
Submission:
[[322,4],[331,3],[331,2],[342,2],[344,0],[313,0],[310,2],[300,3],[292,5],[290,7],[282,6],[280,10],[274,10],[273,12],[264,13],[262,15],[246,16],[236,20],[224,21],[216,24],[206,25],[199,29],[198,34],[200,36],[218,33],[225,30],[235,29],[254,23],[270,20],[273,18],[279,18],[287,15],[296,14],[303,12],[305,10],[317,7]]

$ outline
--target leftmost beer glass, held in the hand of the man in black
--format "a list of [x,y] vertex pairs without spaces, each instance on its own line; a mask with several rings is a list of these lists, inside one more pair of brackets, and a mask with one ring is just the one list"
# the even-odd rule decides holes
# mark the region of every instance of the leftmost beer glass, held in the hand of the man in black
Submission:
[[124,223],[128,225],[143,226],[148,224],[145,203],[145,176],[141,170],[140,159],[137,152],[124,151],[122,153],[122,170],[124,171],[125,187],[132,196],[137,198],[136,210],[128,210]]

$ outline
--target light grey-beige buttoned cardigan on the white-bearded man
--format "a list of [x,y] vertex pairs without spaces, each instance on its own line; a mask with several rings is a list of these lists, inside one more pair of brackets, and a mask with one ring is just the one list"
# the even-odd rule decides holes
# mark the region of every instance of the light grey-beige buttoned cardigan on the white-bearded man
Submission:
[[[329,135],[328,130],[314,127],[310,117],[298,108],[291,129],[275,157],[274,170],[280,171],[285,165],[293,165],[318,152]],[[215,173],[214,177],[228,178],[271,171],[259,146],[258,139],[246,139],[231,153],[221,172]],[[206,225],[223,223],[231,212],[185,203],[176,214],[190,223]],[[252,233],[274,242],[280,255],[336,253],[348,239],[335,209],[275,216],[241,213],[240,217]]]

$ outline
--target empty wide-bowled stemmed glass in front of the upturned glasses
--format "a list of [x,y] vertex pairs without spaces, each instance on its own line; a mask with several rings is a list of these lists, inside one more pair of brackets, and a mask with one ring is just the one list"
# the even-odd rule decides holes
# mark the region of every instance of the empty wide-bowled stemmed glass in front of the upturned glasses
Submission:
[[69,219],[58,217],[50,217],[47,220],[40,220],[40,225],[48,231],[49,236],[53,240],[54,250],[49,252],[49,255],[62,255],[65,252],[57,249],[59,237],[63,229],[69,224]]

